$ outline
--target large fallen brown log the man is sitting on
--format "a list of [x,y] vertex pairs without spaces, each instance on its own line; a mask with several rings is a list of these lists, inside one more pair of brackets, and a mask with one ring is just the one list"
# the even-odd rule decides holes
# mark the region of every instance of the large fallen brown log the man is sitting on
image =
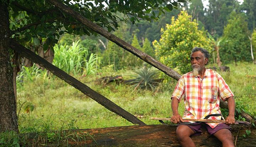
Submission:
[[[234,136],[236,146],[255,146],[256,145],[256,128],[247,125],[231,125],[231,132]],[[192,136],[196,146],[201,147],[221,147],[222,143],[213,135],[209,135],[207,130],[202,127],[202,134]],[[246,134],[250,130],[250,135]],[[85,140],[80,142],[69,141],[69,145],[81,146],[123,146],[123,147],[159,147],[171,146],[180,147],[176,137],[176,125],[137,125],[137,126],[119,126],[112,128],[98,129],[80,129],[74,130],[79,134],[87,135]],[[243,137],[243,135],[246,137]],[[35,134],[30,135],[33,138]],[[96,144],[97,142],[97,144]]]

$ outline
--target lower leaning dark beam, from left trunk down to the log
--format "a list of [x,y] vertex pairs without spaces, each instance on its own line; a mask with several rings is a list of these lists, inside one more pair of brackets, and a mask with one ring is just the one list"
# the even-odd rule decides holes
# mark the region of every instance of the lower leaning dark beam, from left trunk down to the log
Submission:
[[21,56],[26,57],[27,59],[31,60],[34,63],[39,64],[40,66],[48,69],[54,75],[63,79],[66,83],[70,84],[71,86],[75,87],[82,93],[86,94],[108,110],[120,115],[121,117],[127,119],[128,121],[132,122],[133,124],[145,125],[145,123],[134,115],[130,114],[123,108],[119,107],[117,104],[113,103],[112,101],[108,100],[103,95],[97,93],[96,91],[92,90],[90,87],[86,86],[85,84],[81,83],[79,80],[71,77],[69,74],[65,73],[63,70],[59,69],[58,67],[54,66],[53,64],[49,63],[48,61],[44,60],[42,57],[38,56],[36,53],[26,49],[24,46],[18,44],[16,41],[11,40],[11,48],[18,52]]

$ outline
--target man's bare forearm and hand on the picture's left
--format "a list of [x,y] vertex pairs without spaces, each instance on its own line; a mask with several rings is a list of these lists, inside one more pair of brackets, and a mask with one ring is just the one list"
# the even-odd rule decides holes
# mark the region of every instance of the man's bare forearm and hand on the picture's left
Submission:
[[171,102],[171,107],[172,107],[171,122],[175,123],[175,124],[183,122],[180,114],[178,114],[178,103],[179,103],[178,99],[172,97],[172,102]]

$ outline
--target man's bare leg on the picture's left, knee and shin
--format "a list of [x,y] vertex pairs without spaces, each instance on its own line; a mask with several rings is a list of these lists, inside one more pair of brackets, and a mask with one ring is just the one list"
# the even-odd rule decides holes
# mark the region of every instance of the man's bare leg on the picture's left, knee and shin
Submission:
[[177,127],[176,134],[182,147],[195,147],[194,142],[190,138],[195,132],[186,125]]

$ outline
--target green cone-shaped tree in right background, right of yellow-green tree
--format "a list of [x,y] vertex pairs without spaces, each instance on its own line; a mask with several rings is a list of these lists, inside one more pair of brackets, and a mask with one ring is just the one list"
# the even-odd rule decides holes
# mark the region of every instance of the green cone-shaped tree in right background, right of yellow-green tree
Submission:
[[223,36],[229,40],[220,49],[220,58],[223,59],[223,62],[251,60],[249,30],[243,15],[231,13]]

